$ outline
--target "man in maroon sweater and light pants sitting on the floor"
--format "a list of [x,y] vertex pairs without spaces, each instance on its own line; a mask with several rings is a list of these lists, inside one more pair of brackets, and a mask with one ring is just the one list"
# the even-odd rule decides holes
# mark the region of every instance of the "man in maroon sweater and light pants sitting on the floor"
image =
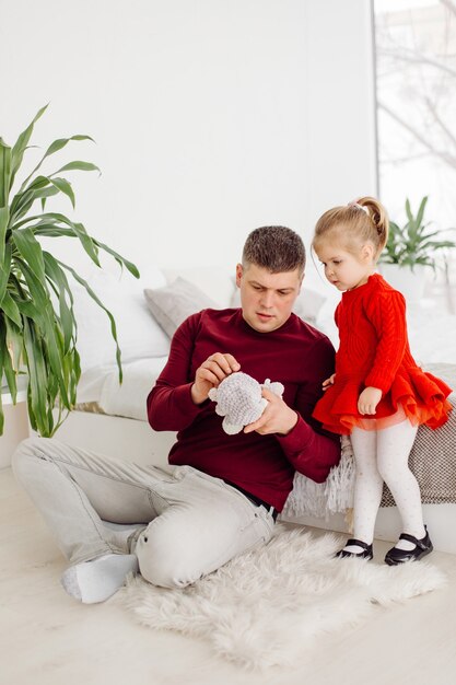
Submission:
[[[304,267],[296,233],[257,229],[236,267],[242,307],[204,310],[177,329],[148,397],[152,428],[178,431],[173,475],[55,440],[20,445],[15,475],[71,564],[62,577],[71,595],[102,602],[138,568],[151,583],[185,587],[270,539],[295,471],[321,483],[338,463],[338,437],[311,416],[334,348],[292,314]],[[239,370],[280,381],[284,393],[264,390],[261,417],[227,436],[208,394]]]

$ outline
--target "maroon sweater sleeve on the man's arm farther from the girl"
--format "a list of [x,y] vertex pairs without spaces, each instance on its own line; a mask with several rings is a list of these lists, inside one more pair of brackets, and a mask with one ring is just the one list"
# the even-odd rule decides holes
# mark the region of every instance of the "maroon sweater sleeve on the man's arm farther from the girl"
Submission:
[[209,402],[196,405],[191,399],[191,353],[198,325],[199,314],[195,314],[177,328],[167,363],[149,393],[148,419],[154,430],[187,428]]

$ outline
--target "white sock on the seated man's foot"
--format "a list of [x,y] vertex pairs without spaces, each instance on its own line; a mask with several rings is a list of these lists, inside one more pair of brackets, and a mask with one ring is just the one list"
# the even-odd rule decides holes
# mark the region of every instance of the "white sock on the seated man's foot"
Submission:
[[138,572],[136,555],[107,554],[93,561],[70,566],[60,582],[75,600],[94,604],[104,602],[117,592],[130,572]]

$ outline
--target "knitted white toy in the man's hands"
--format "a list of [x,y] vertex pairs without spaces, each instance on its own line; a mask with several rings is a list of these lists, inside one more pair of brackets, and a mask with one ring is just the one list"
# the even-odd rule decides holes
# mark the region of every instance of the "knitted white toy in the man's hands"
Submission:
[[268,404],[268,400],[261,397],[264,387],[280,397],[284,391],[282,383],[271,383],[267,379],[261,385],[252,375],[242,371],[232,373],[219,387],[209,391],[209,397],[217,402],[217,414],[225,417],[222,422],[225,433],[234,436],[241,432],[244,426],[259,419]]

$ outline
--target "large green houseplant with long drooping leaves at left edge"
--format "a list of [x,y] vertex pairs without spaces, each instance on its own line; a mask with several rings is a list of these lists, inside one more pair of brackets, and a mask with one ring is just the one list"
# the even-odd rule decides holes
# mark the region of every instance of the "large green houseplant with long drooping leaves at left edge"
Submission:
[[[70,141],[92,140],[89,136],[55,140],[19,185],[17,176],[34,126],[46,108],[47,105],[39,109],[12,148],[0,138],[0,378],[15,403],[19,376],[26,374],[31,426],[40,436],[51,437],[74,406],[81,375],[69,274],[110,320],[120,381],[121,364],[113,315],[87,282],[71,266],[44,249],[38,239],[73,237],[97,266],[101,266],[102,249],[133,276],[138,277],[139,272],[133,264],[90,236],[82,223],[46,211],[47,199],[56,195],[66,196],[74,208],[73,188],[61,174],[100,170],[90,162],[77,160],[43,175],[38,173],[43,162]],[[57,416],[52,411],[56,408]],[[0,396],[0,434],[3,422]]]

